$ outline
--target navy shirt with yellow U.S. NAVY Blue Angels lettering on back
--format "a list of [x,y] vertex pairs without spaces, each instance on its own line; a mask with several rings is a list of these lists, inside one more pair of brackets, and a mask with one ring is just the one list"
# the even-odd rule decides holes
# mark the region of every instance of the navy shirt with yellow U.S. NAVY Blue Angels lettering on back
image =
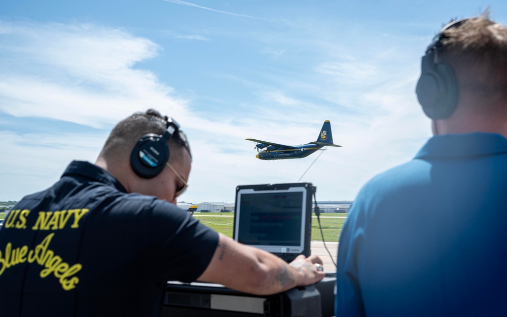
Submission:
[[205,270],[218,233],[110,173],[71,163],[0,230],[0,315],[159,315],[165,282]]

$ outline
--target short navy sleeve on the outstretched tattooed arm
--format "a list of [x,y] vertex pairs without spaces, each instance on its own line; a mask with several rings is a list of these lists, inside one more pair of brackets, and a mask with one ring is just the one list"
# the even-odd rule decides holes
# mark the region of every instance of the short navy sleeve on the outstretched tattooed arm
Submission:
[[183,209],[159,200],[153,203],[150,231],[150,245],[158,253],[154,268],[166,281],[195,281],[219,242],[218,232]]

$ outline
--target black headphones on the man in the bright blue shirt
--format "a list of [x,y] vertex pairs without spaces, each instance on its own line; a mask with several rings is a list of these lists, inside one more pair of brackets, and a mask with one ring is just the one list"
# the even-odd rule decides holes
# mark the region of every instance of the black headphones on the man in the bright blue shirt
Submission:
[[424,113],[431,119],[445,119],[451,116],[458,104],[458,81],[448,63],[435,63],[436,52],[442,50],[443,32],[451,27],[459,27],[467,19],[453,21],[433,37],[421,60],[421,76],[416,86],[416,94]]

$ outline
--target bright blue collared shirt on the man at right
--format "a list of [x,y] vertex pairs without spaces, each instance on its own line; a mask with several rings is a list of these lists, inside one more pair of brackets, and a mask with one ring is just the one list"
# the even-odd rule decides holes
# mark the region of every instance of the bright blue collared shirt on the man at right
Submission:
[[507,315],[506,197],[507,139],[429,139],[352,204],[340,237],[336,315]]

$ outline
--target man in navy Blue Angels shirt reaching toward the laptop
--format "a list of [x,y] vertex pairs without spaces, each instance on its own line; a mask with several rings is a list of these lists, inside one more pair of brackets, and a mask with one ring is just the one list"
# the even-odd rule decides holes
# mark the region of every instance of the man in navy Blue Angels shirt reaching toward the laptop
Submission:
[[169,280],[274,294],[323,278],[317,256],[286,263],[178,209],[190,167],[172,118],[150,109],[120,122],[95,164],[72,162],[7,216],[0,315],[157,316]]

